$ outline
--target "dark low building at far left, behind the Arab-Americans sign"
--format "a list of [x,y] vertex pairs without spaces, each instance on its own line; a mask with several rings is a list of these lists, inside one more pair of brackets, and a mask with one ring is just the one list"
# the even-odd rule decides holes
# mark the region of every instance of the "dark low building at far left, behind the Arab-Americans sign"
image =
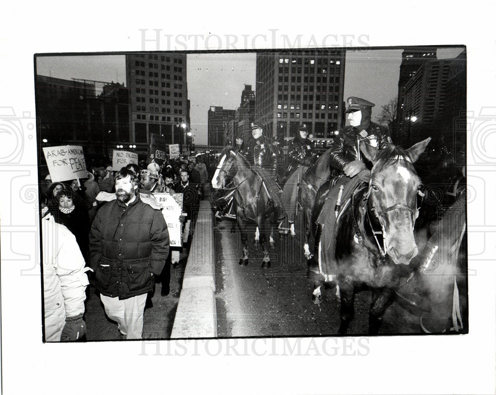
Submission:
[[111,160],[112,149],[128,141],[124,84],[37,75],[35,99],[42,146],[81,145],[92,166]]

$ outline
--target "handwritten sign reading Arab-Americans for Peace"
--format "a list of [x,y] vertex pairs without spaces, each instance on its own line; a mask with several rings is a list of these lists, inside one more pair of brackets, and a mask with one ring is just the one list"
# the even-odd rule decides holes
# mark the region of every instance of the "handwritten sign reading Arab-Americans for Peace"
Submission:
[[52,182],[88,177],[83,147],[80,145],[44,147],[43,154]]

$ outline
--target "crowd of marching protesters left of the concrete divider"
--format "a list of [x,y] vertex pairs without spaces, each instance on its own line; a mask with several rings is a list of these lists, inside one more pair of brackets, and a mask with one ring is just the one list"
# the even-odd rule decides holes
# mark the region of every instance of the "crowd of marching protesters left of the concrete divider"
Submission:
[[[90,168],[86,179],[52,182],[39,191],[42,213],[44,329],[46,341],[84,340],[86,287],[95,286],[108,318],[124,339],[141,338],[143,314],[161,284],[170,292],[171,266],[184,267],[199,200],[208,193],[200,158],[143,169],[129,164]],[[186,193],[183,246],[169,246],[156,193]],[[180,257],[183,258],[180,260]]]

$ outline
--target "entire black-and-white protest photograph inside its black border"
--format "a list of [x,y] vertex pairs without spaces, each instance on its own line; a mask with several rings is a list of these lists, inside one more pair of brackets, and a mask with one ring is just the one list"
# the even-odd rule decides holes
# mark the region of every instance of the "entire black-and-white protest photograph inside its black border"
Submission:
[[464,46],[35,62],[46,341],[468,332]]

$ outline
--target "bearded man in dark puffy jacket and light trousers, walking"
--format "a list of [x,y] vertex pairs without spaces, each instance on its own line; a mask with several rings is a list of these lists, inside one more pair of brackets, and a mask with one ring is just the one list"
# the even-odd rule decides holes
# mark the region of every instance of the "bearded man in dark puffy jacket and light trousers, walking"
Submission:
[[144,203],[136,174],[115,175],[116,200],[98,211],[90,232],[90,266],[107,316],[126,339],[143,331],[146,294],[169,254],[169,231],[160,209]]

